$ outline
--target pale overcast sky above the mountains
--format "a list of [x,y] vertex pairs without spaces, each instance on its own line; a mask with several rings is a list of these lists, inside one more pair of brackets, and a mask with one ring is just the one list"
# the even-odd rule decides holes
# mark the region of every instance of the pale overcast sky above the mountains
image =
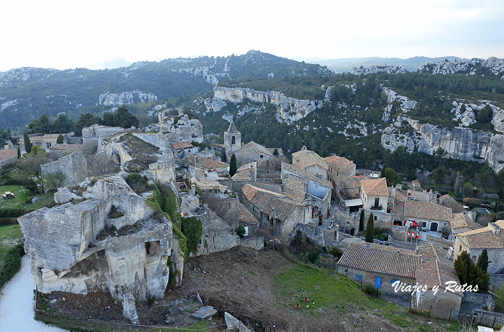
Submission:
[[504,1],[5,1],[0,70],[227,56],[504,57]]

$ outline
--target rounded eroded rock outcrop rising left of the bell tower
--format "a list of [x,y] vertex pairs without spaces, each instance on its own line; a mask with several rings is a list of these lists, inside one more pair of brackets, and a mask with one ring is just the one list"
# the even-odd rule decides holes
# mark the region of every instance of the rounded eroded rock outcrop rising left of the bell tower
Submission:
[[198,119],[190,119],[182,110],[166,109],[158,113],[159,133],[170,143],[183,141],[203,142],[203,125]]

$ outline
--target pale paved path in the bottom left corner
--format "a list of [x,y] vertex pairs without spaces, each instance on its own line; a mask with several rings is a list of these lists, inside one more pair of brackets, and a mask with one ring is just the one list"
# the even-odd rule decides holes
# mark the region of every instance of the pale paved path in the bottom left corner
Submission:
[[21,270],[0,292],[0,332],[65,332],[35,320],[35,300],[30,262],[25,255],[21,259]]

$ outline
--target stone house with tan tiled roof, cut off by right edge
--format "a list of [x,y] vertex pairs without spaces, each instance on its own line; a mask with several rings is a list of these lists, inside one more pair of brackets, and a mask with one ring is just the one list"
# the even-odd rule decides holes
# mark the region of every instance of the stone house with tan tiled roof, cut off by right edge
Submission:
[[[483,249],[488,254],[488,273],[500,273],[504,269],[504,220],[490,222],[486,227],[457,234],[455,239],[454,257],[466,251],[471,260],[476,263]],[[501,233],[502,231],[502,233]]]

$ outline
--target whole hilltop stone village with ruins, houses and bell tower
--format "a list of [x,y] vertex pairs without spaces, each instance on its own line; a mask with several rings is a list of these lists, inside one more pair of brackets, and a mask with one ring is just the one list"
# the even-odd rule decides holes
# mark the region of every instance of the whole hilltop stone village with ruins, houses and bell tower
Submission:
[[[218,143],[181,110],[160,111],[158,119],[144,131],[93,125],[82,130],[82,138],[64,134],[62,144],[56,143],[57,134],[31,137],[54,160],[42,165],[42,172],[65,175],[54,194],[56,206],[18,218],[39,292],[105,291],[121,303],[125,318],[138,323],[135,299],[162,298],[168,284],[180,285],[184,257],[235,246],[261,250],[265,243],[289,243],[301,233],[320,246],[341,248],[337,272],[359,285],[373,284],[397,303],[430,308],[433,317],[491,317],[504,323],[488,294],[411,294],[396,292],[393,285],[446,290],[447,282],[459,280],[454,260],[467,252],[476,262],[484,249],[490,283],[499,280],[504,220],[481,227],[474,213],[454,213],[451,197],[422,190],[417,180],[408,189],[388,186],[380,173],[305,146],[292,153],[290,163],[279,146],[243,144],[232,120]],[[116,172],[90,174],[83,153],[87,144],[111,158]],[[13,148],[0,151],[0,162],[15,161],[15,154]],[[132,185],[137,175],[145,180],[142,189]],[[153,204],[159,187],[179,202],[176,218]],[[366,230],[361,214],[386,238],[364,241],[358,234]],[[201,221],[192,251],[180,218]],[[216,312],[202,308],[208,316]],[[236,324],[231,326],[241,324],[226,313],[228,320]]]

